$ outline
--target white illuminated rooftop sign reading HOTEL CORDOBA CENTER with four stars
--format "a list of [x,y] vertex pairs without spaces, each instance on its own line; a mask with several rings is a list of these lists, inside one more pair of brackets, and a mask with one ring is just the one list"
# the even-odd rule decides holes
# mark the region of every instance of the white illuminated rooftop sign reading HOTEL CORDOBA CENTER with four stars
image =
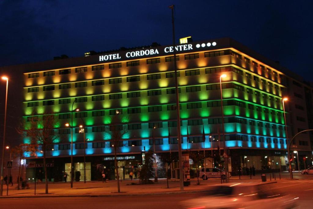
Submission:
[[[176,52],[188,52],[194,51],[197,49],[208,49],[211,46],[216,46],[216,42],[208,42],[208,43],[188,43],[188,44],[180,44],[175,46]],[[115,54],[108,54],[108,55],[100,55],[99,61],[109,61],[109,60],[127,60],[129,58],[141,58],[141,57],[148,57],[148,56],[156,56],[156,55],[167,55],[172,54],[174,52],[173,46],[163,46],[163,47],[156,47],[153,49],[142,49],[142,50],[134,50],[128,52],[121,52]]]

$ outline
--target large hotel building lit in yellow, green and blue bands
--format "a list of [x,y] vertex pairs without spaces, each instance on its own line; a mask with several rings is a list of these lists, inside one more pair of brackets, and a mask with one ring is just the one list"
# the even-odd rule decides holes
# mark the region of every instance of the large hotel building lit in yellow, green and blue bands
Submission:
[[[152,147],[153,127],[156,152],[177,151],[172,47],[150,46],[89,54],[92,55],[14,66],[24,71],[25,121],[44,112],[53,112],[60,120],[60,126],[56,127],[59,141],[54,150],[47,153],[48,162],[54,163],[54,167],[48,169],[50,180],[61,178],[62,171],[69,173],[70,170],[70,129],[64,124],[70,123],[75,99],[74,108],[80,109],[73,113],[75,170],[83,170],[83,134],[79,133],[78,126],[84,120],[85,138],[89,139],[87,180],[99,178],[101,173],[97,169],[103,166],[114,178],[114,151],[107,133],[112,119],[122,118],[121,122],[126,122],[123,126],[129,130],[118,148],[123,178],[128,178],[130,170],[136,172],[142,162],[141,151]],[[229,38],[179,44],[177,68],[183,151],[203,150],[203,146],[206,150],[218,146],[223,149],[219,78],[226,74],[222,89],[225,142],[231,157],[229,170],[235,173],[239,166],[252,165],[257,170],[264,166],[279,170],[281,165],[285,170],[288,159],[282,97],[290,97],[286,116],[291,117],[287,119],[289,128],[293,126],[291,138],[300,129],[312,127],[309,85]],[[303,99],[295,100],[296,93]],[[295,145],[301,150],[300,155],[308,156],[306,162],[311,165],[312,137],[301,135]],[[28,138],[24,140],[28,142]],[[42,154],[37,156],[38,159],[27,159],[27,162],[42,162]],[[33,172],[34,169],[28,168],[27,176],[33,176]]]

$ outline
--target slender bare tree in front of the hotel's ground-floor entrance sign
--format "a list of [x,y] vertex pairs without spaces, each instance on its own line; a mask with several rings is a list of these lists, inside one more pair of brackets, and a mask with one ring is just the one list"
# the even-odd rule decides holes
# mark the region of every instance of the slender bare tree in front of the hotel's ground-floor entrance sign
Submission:
[[118,173],[118,165],[117,165],[117,150],[119,147],[124,146],[123,138],[127,136],[128,129],[127,124],[128,119],[126,117],[118,117],[120,110],[116,110],[116,116],[110,118],[110,125],[105,128],[105,133],[110,135],[110,143],[111,147],[114,150],[114,165],[115,165],[115,172],[116,172],[116,181],[117,181],[117,192],[121,192],[120,189],[120,181],[119,181],[119,173]]

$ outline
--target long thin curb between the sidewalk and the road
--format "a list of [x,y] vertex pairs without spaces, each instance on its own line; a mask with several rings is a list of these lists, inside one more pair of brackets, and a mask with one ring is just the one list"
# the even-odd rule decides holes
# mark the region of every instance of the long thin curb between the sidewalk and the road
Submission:
[[[277,181],[259,183],[259,185],[275,184]],[[213,186],[213,185],[212,185]],[[190,190],[190,191],[170,191],[170,192],[156,192],[156,193],[135,193],[135,194],[112,194],[112,195],[54,195],[54,196],[8,196],[0,197],[1,199],[12,199],[12,198],[54,198],[54,197],[117,197],[117,196],[150,196],[150,195],[174,195],[174,194],[191,194],[191,193],[202,193],[210,191],[205,190]]]

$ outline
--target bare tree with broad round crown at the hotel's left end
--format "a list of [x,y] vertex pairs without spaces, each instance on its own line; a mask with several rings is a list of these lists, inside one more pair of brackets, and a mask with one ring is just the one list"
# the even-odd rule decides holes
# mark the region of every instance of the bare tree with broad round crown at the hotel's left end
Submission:
[[19,131],[24,136],[26,133],[26,137],[30,139],[30,144],[37,147],[37,151],[43,154],[46,194],[48,194],[46,152],[52,150],[53,144],[59,138],[58,130],[55,129],[58,126],[58,119],[53,114],[44,113],[39,116],[28,117],[27,122],[24,123],[24,128]]

